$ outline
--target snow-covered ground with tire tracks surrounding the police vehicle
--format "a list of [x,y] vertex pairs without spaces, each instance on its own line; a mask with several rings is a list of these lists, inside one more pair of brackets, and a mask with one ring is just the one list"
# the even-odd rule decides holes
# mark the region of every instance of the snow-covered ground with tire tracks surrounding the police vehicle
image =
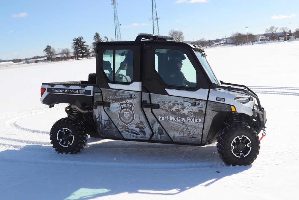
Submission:
[[[57,154],[52,124],[65,105],[40,103],[42,82],[87,80],[95,59],[0,68],[0,199],[297,199],[299,42],[206,49],[224,82],[251,86],[267,136],[250,166],[225,166],[205,147],[89,138]],[[220,172],[220,173],[218,173]]]

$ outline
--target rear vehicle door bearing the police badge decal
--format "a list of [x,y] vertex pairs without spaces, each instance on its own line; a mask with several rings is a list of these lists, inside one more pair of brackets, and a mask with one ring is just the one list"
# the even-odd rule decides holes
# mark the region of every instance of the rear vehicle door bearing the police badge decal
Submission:
[[151,129],[141,108],[141,45],[97,44],[93,110],[103,138],[148,140]]

